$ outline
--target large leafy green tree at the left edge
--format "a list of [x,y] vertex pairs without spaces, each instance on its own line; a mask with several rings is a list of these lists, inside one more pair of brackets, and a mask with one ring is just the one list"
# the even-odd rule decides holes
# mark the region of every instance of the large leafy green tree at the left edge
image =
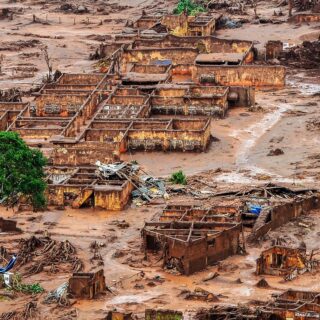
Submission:
[[14,206],[22,196],[35,210],[46,204],[46,158],[15,132],[0,132],[0,202]]

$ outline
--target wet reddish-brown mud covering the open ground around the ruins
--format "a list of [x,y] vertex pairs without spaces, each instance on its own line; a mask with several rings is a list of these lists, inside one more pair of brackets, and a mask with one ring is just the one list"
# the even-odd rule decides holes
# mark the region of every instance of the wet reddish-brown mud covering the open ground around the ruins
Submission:
[[[174,2],[84,1],[89,12],[75,14],[57,10],[60,1],[2,1],[1,8],[15,7],[18,13],[14,14],[13,20],[0,19],[0,54],[4,55],[0,88],[21,87],[28,90],[39,84],[47,72],[41,52],[43,46],[48,47],[54,69],[62,72],[94,71],[95,66],[88,57],[99,45],[99,36],[106,37],[119,32],[126,20],[138,17],[142,9],[150,13],[157,12],[170,9]],[[73,3],[79,5],[78,1]],[[274,7],[274,2],[261,2],[258,14],[274,19]],[[285,21],[286,8],[283,7],[282,11],[285,16],[277,19]],[[40,22],[32,23],[33,15]],[[251,8],[246,18],[253,20]],[[258,49],[263,50],[268,40],[279,39],[291,45],[306,39],[314,40],[319,36],[319,28],[319,23],[246,23],[238,29],[219,30],[217,35],[228,39],[254,40]],[[269,181],[319,187],[320,128],[313,125],[320,118],[319,96],[319,70],[289,69],[285,88],[257,91],[255,110],[231,109],[225,119],[212,121],[212,136],[217,139],[206,153],[135,153],[123,158],[137,160],[145,170],[156,176],[166,177],[182,169],[189,177],[195,175],[216,185],[216,190]],[[281,149],[283,154],[268,156],[275,149]],[[204,186],[200,185],[199,188]],[[173,200],[177,199],[169,199]],[[183,197],[178,200],[183,203],[192,201]],[[142,315],[146,307],[192,311],[212,304],[186,301],[179,296],[182,290],[193,291],[199,287],[217,295],[221,303],[266,301],[272,293],[286,288],[320,291],[320,273],[304,274],[289,283],[279,277],[267,276],[265,278],[270,285],[268,289],[256,287],[261,277],[254,274],[255,260],[261,249],[279,236],[285,235],[286,240],[294,244],[304,241],[308,251],[317,249],[320,212],[314,212],[301,218],[301,221],[290,222],[269,233],[261,243],[249,246],[245,256],[230,257],[218,266],[185,277],[163,271],[161,263],[151,266],[150,262],[143,260],[141,228],[163,206],[164,203],[129,207],[116,213],[92,209],[51,209],[43,213],[32,213],[0,208],[1,216],[16,219],[24,231],[22,235],[15,236],[1,234],[0,246],[15,250],[17,240],[21,237],[50,234],[53,239],[68,239],[83,260],[84,270],[91,271],[98,268],[90,250],[90,244],[96,241],[103,259],[106,282],[112,289],[112,293],[108,292],[97,300],[78,300],[67,308],[42,304],[46,293],[37,297],[19,294],[13,300],[5,298],[0,301],[0,314],[20,310],[33,300],[38,302],[39,319],[103,319],[106,311],[115,307],[138,315]],[[129,224],[127,228],[119,226],[118,221],[122,220]],[[145,273],[143,278],[141,271]],[[211,272],[220,275],[203,282],[203,278]],[[23,280],[26,283],[39,282],[49,291],[69,277],[68,272],[41,272],[25,276]]]

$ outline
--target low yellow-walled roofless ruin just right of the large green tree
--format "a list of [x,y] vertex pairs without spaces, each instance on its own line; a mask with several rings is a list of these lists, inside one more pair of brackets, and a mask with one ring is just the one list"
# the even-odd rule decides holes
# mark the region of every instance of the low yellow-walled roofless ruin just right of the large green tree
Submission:
[[96,170],[92,166],[47,168],[48,204],[123,210],[134,189],[132,183],[120,178],[102,179]]

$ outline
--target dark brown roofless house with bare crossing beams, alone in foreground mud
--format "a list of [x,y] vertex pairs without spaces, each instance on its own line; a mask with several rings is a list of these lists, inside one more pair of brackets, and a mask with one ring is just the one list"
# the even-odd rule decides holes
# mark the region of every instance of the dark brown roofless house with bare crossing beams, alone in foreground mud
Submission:
[[237,254],[240,223],[168,221],[147,222],[142,231],[145,253],[158,252],[163,265],[190,275]]

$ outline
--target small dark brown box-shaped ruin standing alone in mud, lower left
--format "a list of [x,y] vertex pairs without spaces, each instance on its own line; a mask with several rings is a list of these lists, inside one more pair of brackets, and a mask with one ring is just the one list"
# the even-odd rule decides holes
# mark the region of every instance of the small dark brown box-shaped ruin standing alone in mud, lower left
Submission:
[[69,279],[69,293],[82,299],[94,299],[106,290],[103,270],[97,272],[77,272]]

